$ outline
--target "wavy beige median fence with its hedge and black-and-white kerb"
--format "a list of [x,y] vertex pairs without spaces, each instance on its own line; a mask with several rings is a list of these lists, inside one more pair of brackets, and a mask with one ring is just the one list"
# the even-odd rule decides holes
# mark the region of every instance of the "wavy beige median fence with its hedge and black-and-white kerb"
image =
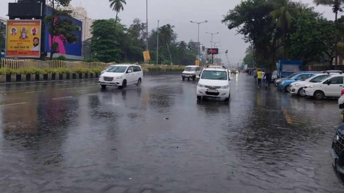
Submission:
[[[111,64],[115,63],[1,58],[0,83],[98,78],[100,72]],[[144,76],[176,75],[185,69],[185,66],[175,65],[142,64],[141,67]]]

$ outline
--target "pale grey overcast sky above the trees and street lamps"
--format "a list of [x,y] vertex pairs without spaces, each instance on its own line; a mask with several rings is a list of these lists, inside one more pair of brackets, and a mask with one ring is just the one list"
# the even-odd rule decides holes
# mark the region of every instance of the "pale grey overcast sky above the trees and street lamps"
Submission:
[[[8,13],[8,2],[15,0],[0,0],[0,16],[6,17]],[[130,25],[134,18],[146,21],[146,1],[145,0],[126,0],[124,11],[119,13],[122,23]],[[211,35],[216,33],[213,42],[221,42],[221,49],[228,49],[230,63],[238,63],[245,56],[245,49],[248,46],[242,40],[241,35],[235,35],[235,30],[229,30],[221,23],[223,15],[229,9],[233,9],[241,0],[148,0],[148,29],[149,31],[157,27],[158,20],[160,25],[170,23],[174,25],[174,31],[178,34],[178,41],[189,42],[191,39],[197,41],[197,24],[191,21],[201,22],[208,20],[208,23],[200,25],[200,42],[206,47],[211,46]],[[312,0],[302,0],[313,6]],[[82,4],[86,7],[92,19],[115,18],[116,13],[109,8],[108,0],[72,0],[72,5]],[[324,13],[326,18],[333,20],[331,7],[316,7],[316,10]],[[222,56],[226,63],[227,59]]]

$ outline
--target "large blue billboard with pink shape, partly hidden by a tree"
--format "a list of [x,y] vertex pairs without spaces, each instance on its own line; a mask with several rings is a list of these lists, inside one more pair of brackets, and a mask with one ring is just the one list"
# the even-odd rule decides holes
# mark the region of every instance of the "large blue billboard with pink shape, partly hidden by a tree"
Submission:
[[[51,8],[47,7],[47,14],[51,15]],[[73,25],[79,26],[79,30],[75,31],[74,34],[78,36],[77,42],[67,42],[63,44],[59,37],[55,37],[55,42],[58,44],[58,53],[54,54],[54,57],[65,56],[67,59],[83,60],[82,57],[82,21],[70,18],[73,21]],[[48,31],[48,26],[45,27],[45,45],[44,50],[47,52],[48,57],[50,56],[51,47],[51,35]]]

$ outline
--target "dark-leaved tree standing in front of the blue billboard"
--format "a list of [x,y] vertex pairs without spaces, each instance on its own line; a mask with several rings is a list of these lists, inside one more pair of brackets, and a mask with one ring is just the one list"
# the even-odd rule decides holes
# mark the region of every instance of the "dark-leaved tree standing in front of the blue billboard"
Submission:
[[73,21],[70,19],[71,11],[58,9],[60,5],[68,6],[71,0],[49,0],[49,2],[52,14],[45,16],[44,22],[51,35],[50,60],[52,60],[53,55],[59,52],[56,39],[60,39],[63,43],[78,41],[78,36],[74,32],[79,30],[79,26],[73,25]]

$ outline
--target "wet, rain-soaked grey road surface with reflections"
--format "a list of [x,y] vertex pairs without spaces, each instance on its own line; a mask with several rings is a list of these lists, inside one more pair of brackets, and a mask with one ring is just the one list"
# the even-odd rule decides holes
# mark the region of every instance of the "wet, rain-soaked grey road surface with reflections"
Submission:
[[0,84],[0,192],[344,191],[329,153],[336,100],[234,75],[229,103],[197,102],[196,84]]

